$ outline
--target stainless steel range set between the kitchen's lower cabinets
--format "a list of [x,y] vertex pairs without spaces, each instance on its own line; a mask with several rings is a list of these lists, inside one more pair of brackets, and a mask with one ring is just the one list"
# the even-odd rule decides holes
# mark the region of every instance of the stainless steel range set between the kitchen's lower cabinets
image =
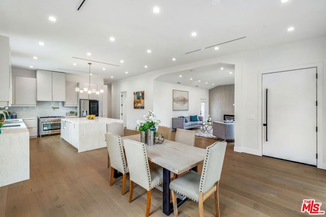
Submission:
[[57,134],[61,131],[61,118],[64,116],[44,116],[38,117],[39,136]]

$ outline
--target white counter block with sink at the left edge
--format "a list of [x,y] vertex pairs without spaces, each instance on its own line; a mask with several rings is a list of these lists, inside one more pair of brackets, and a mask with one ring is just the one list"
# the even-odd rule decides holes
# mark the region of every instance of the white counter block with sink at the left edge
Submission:
[[30,179],[30,133],[22,119],[8,119],[0,134],[0,187]]

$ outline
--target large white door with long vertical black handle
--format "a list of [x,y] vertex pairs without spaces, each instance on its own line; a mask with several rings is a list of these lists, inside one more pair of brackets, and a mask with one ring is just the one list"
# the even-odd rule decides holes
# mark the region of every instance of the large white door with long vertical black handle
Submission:
[[317,165],[317,68],[262,74],[262,154]]

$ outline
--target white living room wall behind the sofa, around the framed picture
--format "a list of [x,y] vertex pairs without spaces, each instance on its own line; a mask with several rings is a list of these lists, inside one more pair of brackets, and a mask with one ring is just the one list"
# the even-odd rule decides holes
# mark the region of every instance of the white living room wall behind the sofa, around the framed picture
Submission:
[[[187,111],[172,110],[172,90],[188,91],[188,108]],[[208,101],[208,89],[177,85],[167,82],[154,81],[154,112],[158,119],[161,120],[160,125],[172,127],[172,117],[200,115],[200,100]],[[208,104],[206,110],[208,111]]]

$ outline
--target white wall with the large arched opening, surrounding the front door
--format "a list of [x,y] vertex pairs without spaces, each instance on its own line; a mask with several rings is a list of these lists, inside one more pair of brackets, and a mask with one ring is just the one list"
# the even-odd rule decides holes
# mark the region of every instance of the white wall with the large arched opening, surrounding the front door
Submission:
[[[306,64],[321,65],[318,67],[319,85],[318,95],[318,167],[326,169],[326,115],[323,115],[323,108],[326,108],[326,37],[319,37],[282,44],[273,47],[242,52],[212,59],[198,61],[196,63],[170,67],[123,79],[112,84],[112,109],[113,115],[119,117],[119,98],[115,97],[119,91],[127,91],[128,102],[132,101],[129,96],[131,90],[145,90],[145,111],[156,108],[151,100],[146,98],[146,92],[151,91],[155,77],[159,75],[188,70],[196,67],[207,66],[216,63],[227,63],[235,65],[235,143],[234,150],[261,155],[261,129],[258,115],[261,105],[258,103],[259,96],[259,74],[265,70],[279,70],[282,68],[296,68]],[[135,85],[135,86],[133,86]],[[145,86],[145,87],[144,87]],[[143,87],[143,88],[140,88]],[[120,93],[120,92],[119,92]],[[119,95],[119,94],[118,94]],[[147,95],[148,96],[148,95]],[[147,101],[150,100],[150,102]],[[154,101],[156,102],[156,101]],[[150,105],[148,104],[150,103]],[[167,102],[169,103],[169,102]],[[114,105],[116,104],[116,105]],[[131,105],[132,108],[132,105]],[[141,112],[132,111],[128,107],[128,126],[134,126],[135,120],[142,118]],[[247,118],[250,115],[250,118]],[[253,115],[253,119],[251,119]],[[129,117],[130,116],[130,117]],[[281,127],[281,126],[280,126]],[[284,129],[286,130],[286,129]]]

